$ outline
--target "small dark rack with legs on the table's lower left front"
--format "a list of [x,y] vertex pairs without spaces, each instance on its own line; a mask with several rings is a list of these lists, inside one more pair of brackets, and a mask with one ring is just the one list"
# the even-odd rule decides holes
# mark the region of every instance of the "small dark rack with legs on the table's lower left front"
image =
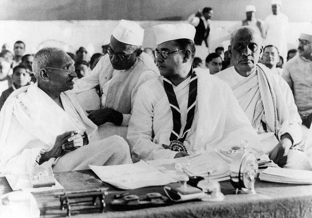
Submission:
[[[105,195],[108,194],[107,192],[108,188],[99,188],[92,191],[85,191],[85,192],[64,192],[63,194],[57,194],[59,196],[60,201],[60,210],[64,210],[67,208],[67,216],[71,216],[71,210],[73,205],[77,205],[80,203],[86,203],[90,202],[91,205],[95,206],[96,198],[99,198],[100,200],[100,212],[104,212],[105,208]],[[73,199],[77,198],[84,198],[84,197],[90,197],[90,200],[84,200],[84,201],[72,201]]]

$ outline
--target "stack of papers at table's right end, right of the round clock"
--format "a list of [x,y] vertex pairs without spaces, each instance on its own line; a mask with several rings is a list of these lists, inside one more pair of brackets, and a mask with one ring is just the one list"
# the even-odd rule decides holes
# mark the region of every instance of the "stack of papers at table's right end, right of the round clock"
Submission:
[[259,174],[259,179],[290,184],[312,184],[312,171],[268,167]]

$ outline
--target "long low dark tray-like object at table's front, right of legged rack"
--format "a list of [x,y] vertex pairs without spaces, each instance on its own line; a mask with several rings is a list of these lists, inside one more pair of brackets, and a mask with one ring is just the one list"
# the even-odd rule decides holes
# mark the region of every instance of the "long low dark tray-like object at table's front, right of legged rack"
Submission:
[[111,206],[114,210],[136,210],[146,207],[166,206],[168,198],[159,193],[148,193],[138,196],[136,194],[119,194],[114,196]]

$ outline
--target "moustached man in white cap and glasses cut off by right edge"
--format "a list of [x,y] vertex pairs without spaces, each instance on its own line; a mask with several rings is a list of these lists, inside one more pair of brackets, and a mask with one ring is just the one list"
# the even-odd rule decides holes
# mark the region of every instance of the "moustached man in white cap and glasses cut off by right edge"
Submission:
[[283,78],[292,90],[302,124],[310,128],[312,121],[312,34],[301,33],[298,40],[299,53],[286,63]]

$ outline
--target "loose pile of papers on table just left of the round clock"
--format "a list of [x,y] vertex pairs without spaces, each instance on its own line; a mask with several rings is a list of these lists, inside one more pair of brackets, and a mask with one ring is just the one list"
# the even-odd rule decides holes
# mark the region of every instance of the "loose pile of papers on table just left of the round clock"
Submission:
[[207,153],[204,151],[200,154],[187,157],[147,161],[155,169],[161,170],[171,177],[179,174],[175,169],[175,164],[183,162],[189,162],[190,164],[185,170],[185,173],[189,176],[207,177],[209,172],[211,179],[217,181],[229,179],[229,165],[214,152]]

